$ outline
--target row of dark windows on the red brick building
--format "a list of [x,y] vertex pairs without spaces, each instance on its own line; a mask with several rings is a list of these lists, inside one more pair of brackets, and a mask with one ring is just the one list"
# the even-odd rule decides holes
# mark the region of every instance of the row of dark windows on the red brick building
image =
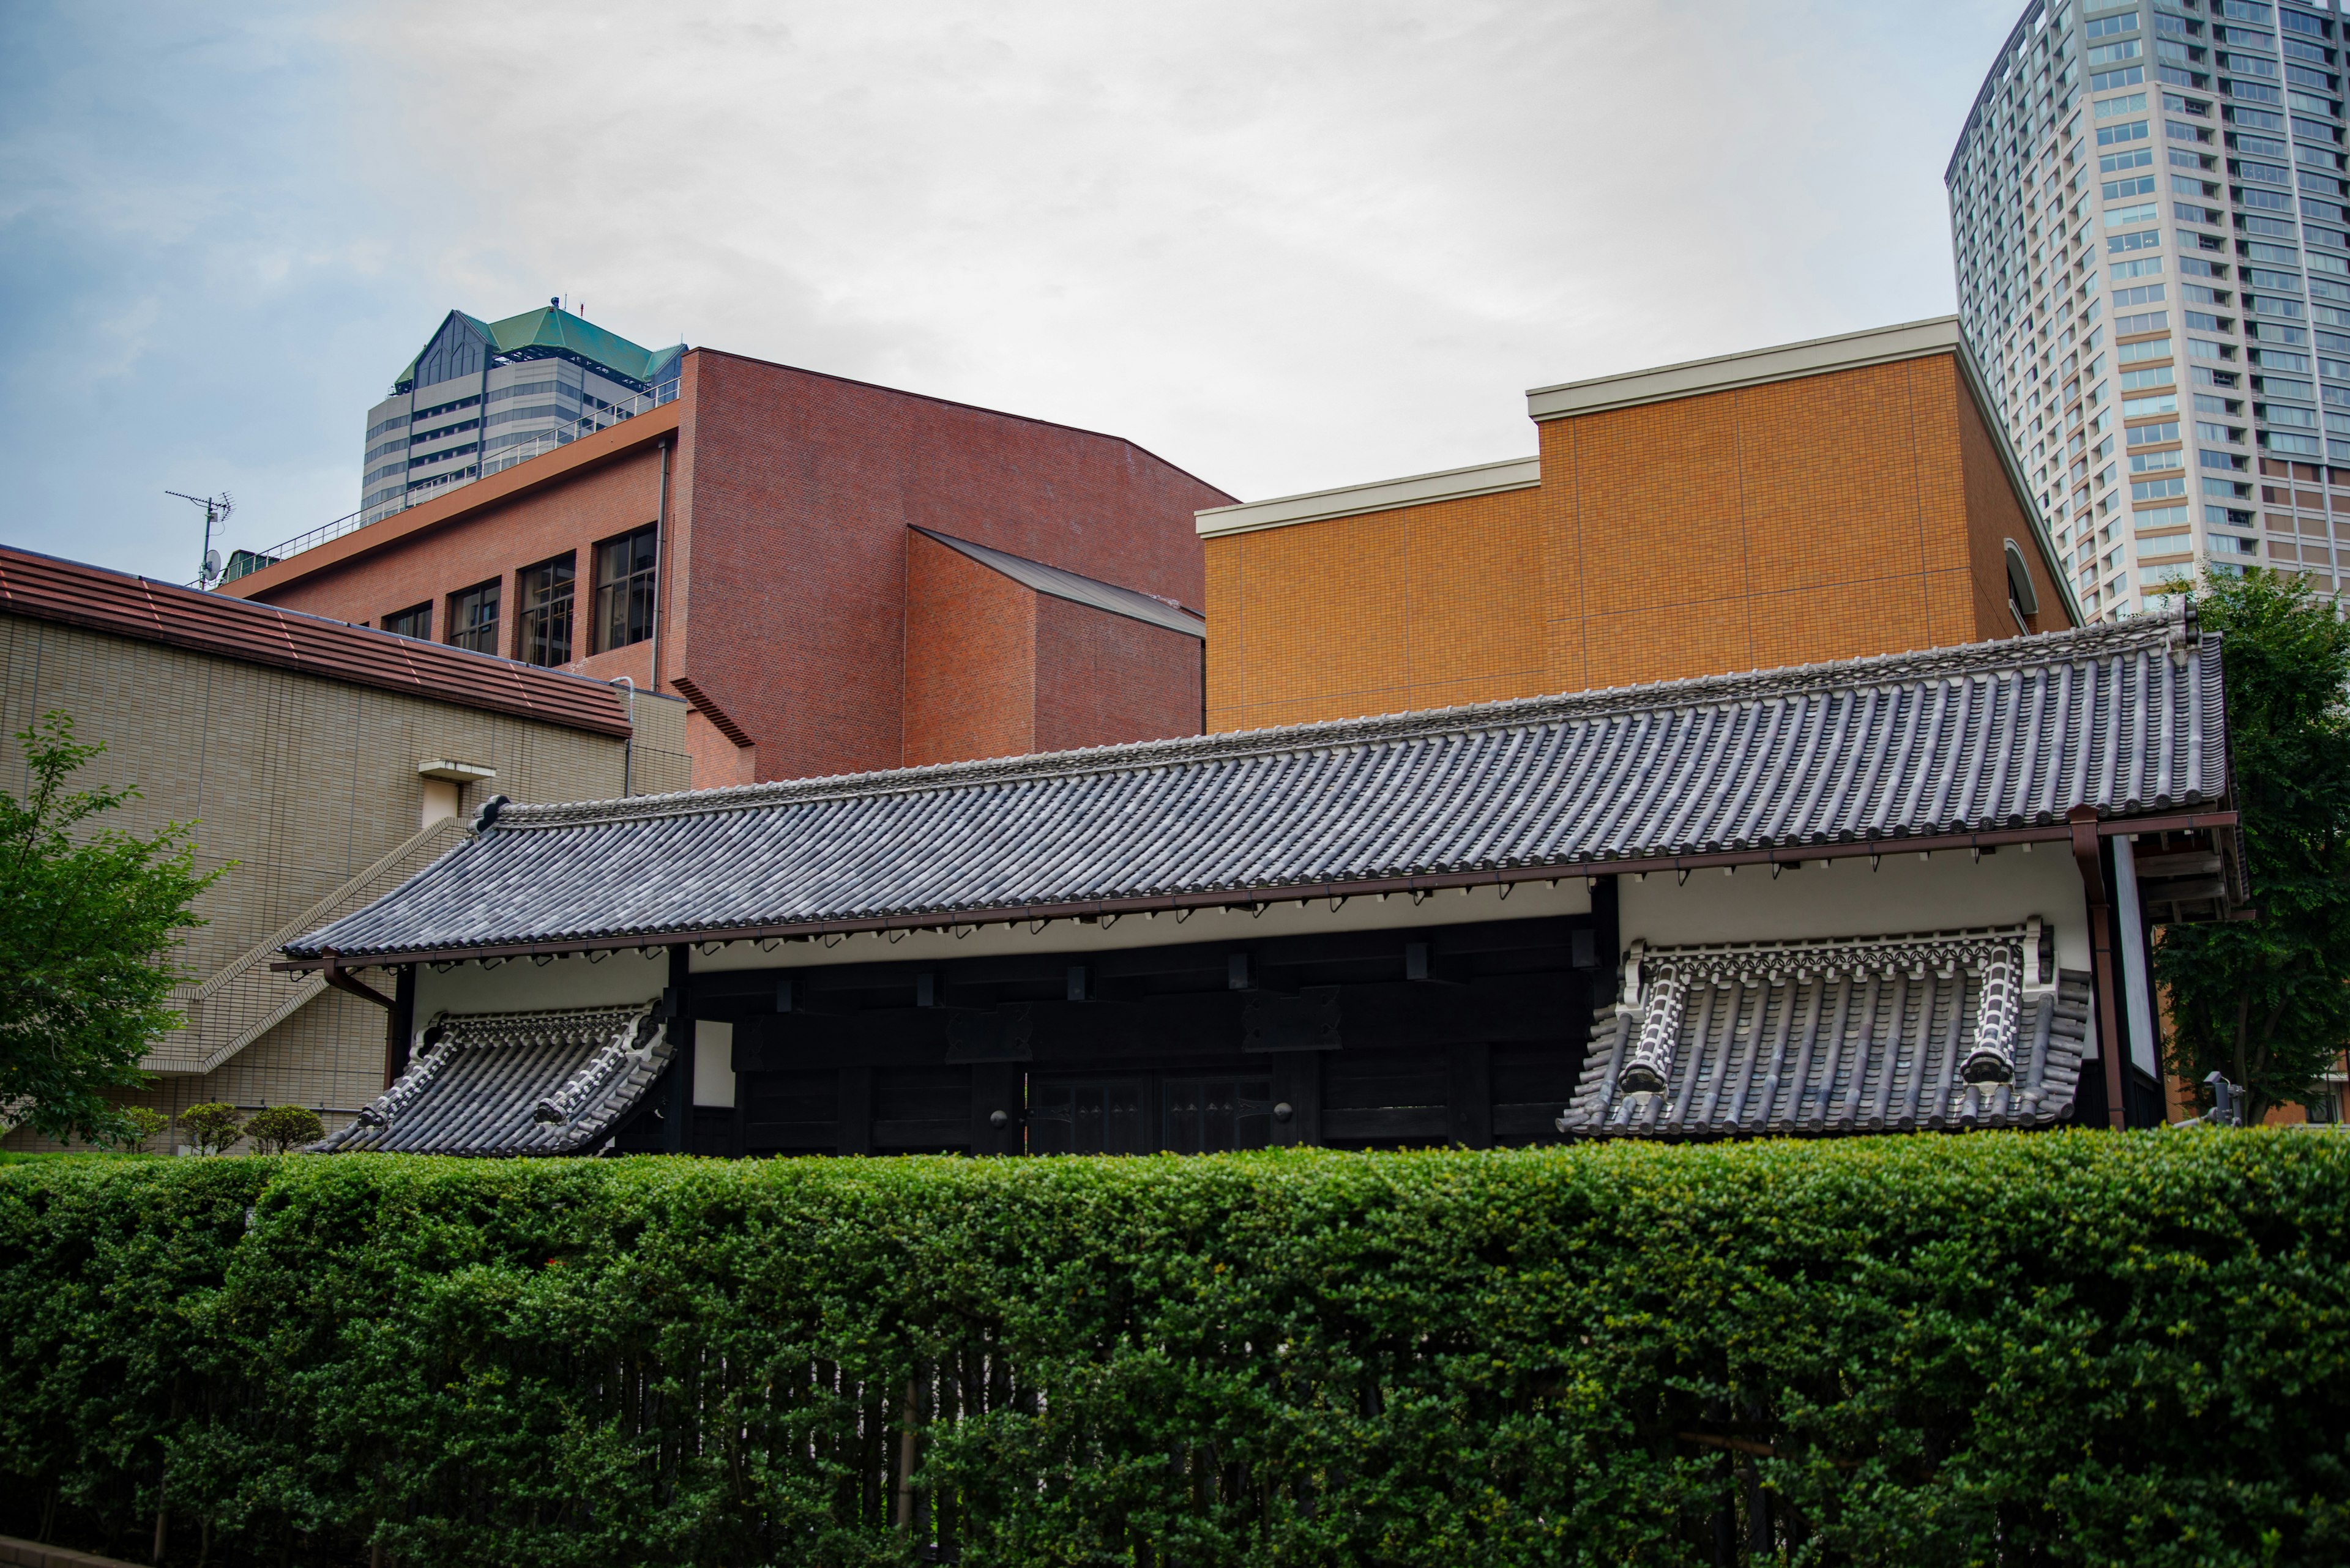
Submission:
[[[653,635],[658,557],[656,524],[595,545],[595,604],[583,628],[588,654],[609,654]],[[571,663],[576,559],[576,552],[564,550],[515,574],[512,658],[529,665]],[[503,578],[449,595],[444,639],[475,654],[498,654],[505,646],[503,604]],[[392,611],[378,625],[432,642],[432,602]]]

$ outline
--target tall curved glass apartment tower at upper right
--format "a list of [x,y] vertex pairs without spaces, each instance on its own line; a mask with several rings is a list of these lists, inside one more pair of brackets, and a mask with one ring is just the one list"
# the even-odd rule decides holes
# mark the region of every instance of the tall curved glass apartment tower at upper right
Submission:
[[2247,564],[2336,590],[2343,19],[2035,0],[1943,183],[1958,315],[2087,614]]

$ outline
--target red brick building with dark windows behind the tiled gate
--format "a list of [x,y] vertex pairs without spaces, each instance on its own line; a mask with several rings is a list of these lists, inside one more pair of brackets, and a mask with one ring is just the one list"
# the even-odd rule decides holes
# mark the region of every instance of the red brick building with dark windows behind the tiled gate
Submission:
[[226,592],[684,696],[698,788],[1198,733],[1194,512],[1231,496],[707,348],[665,393]]

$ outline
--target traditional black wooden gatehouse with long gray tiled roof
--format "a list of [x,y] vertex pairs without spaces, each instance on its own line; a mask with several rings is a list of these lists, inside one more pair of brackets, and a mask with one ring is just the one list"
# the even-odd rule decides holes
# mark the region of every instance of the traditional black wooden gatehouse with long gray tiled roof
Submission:
[[[465,846],[284,952],[407,966],[416,1084],[446,1051],[435,1018],[665,997],[679,1048],[599,1124],[620,1150],[2120,1126],[2160,1117],[2146,931],[2242,898],[2232,820],[2221,646],[2174,616],[494,804]],[[1633,1030],[1605,1067],[1593,1018]],[[1812,1056],[1774,1044],[1755,1100],[1758,1030],[1798,1018]],[[1732,1058],[1746,1088],[1725,1100]],[[1668,1117],[1617,1114],[1659,1093]],[[397,1126],[428,1100],[381,1110]]]

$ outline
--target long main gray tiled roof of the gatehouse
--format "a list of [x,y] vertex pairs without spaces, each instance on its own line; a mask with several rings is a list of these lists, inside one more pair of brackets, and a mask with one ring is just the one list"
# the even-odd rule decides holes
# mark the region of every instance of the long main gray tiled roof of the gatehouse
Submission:
[[294,957],[1577,867],[2143,816],[2228,792],[2183,616],[1483,708],[510,806]]

